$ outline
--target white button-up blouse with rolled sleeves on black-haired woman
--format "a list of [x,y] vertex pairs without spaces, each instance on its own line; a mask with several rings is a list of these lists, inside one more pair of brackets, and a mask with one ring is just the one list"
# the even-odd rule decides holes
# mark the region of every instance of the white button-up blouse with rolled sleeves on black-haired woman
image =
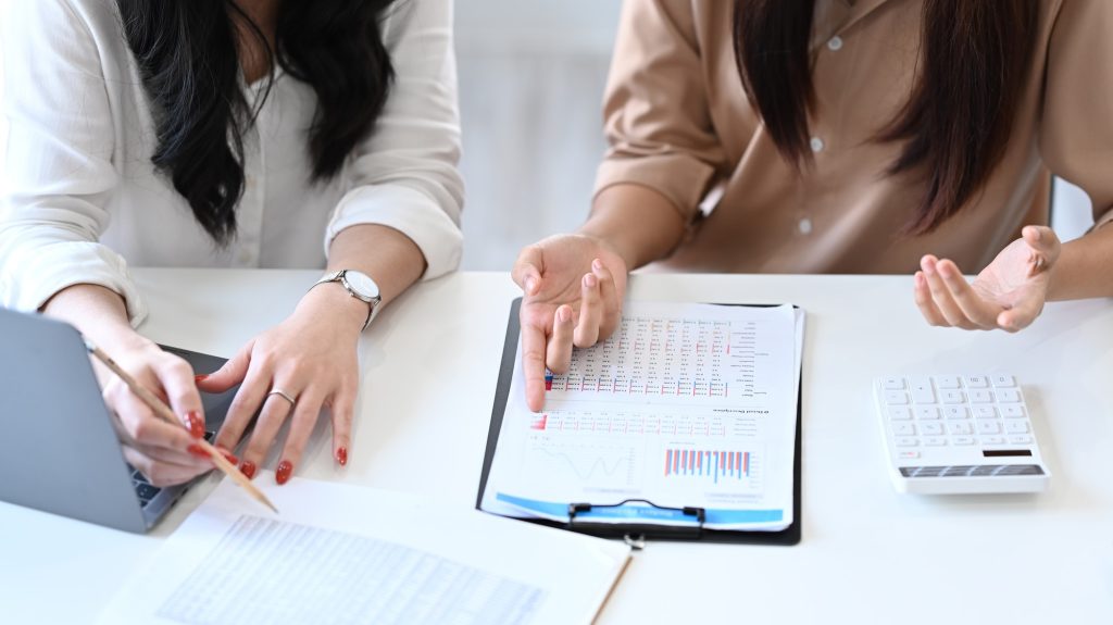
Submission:
[[[169,178],[114,0],[20,0],[3,20],[10,122],[0,204],[0,302],[35,310],[76,284],[146,307],[128,275],[144,267],[323,268],[353,225],[381,224],[421,248],[425,278],[460,262],[463,180],[451,0],[402,0],[383,37],[395,69],[373,133],[341,175],[311,180],[313,89],[277,73],[244,137],[237,236],[218,247]],[[248,103],[263,82],[245,87]],[[322,242],[324,245],[322,245]]]

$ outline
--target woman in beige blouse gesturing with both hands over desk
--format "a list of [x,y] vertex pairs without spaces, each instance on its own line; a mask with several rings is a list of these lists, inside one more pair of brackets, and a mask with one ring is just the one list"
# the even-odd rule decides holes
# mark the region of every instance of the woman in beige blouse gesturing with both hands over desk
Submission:
[[[967,329],[1113,295],[1111,31],[1107,0],[628,1],[591,216],[513,271],[530,406],[649,262],[915,271],[927,321]],[[1093,202],[1066,245],[1052,172]]]

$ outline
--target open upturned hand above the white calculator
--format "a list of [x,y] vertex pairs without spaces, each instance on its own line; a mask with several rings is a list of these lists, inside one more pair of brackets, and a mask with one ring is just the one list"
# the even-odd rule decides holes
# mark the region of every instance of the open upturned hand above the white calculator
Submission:
[[916,271],[916,305],[933,326],[1017,331],[1043,310],[1061,247],[1051,228],[1026,226],[973,284],[951,260],[925,256],[923,271]]

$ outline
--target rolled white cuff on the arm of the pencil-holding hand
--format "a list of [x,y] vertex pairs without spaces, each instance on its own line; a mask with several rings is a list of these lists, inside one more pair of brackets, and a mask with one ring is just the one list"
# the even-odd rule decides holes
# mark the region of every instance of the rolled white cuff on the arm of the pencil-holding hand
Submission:
[[124,298],[132,327],[147,318],[147,306],[131,280],[127,262],[104,245],[56,242],[12,254],[6,265],[0,297],[9,308],[35,312],[67,287],[98,285]]

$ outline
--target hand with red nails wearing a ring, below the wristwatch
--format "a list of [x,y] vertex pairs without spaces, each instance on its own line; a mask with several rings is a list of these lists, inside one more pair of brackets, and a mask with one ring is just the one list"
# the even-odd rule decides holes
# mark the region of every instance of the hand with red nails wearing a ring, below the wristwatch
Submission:
[[[275,469],[285,484],[299,466],[322,408],[332,409],[333,458],[347,464],[352,410],[358,390],[356,347],[367,305],[338,284],[309,290],[285,321],[250,340],[216,373],[198,380],[208,393],[236,393],[217,445],[235,448],[252,416],[258,413],[240,470],[254,477],[287,418],[289,434]],[[282,391],[286,399],[277,391]]]

